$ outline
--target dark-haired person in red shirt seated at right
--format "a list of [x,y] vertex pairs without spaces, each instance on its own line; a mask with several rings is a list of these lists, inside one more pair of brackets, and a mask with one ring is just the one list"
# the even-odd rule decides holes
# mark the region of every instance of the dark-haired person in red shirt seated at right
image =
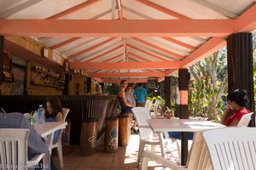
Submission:
[[227,96],[228,106],[224,111],[220,123],[227,127],[236,126],[241,119],[241,116],[250,113],[246,109],[248,98],[244,90],[236,89]]

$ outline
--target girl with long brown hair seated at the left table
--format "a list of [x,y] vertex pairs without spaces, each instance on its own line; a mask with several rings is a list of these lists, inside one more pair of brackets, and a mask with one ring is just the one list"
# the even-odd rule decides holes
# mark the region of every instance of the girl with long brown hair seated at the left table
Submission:
[[[57,97],[51,97],[46,100],[45,108],[45,122],[62,122],[62,105],[61,100]],[[58,130],[54,134],[53,144],[55,144],[58,139],[61,130]]]

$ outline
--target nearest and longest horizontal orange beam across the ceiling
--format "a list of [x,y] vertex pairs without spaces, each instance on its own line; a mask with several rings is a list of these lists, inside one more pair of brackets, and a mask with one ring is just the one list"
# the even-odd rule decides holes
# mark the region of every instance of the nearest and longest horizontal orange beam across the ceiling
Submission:
[[0,20],[0,34],[24,37],[223,37],[234,31],[234,22],[235,20]]

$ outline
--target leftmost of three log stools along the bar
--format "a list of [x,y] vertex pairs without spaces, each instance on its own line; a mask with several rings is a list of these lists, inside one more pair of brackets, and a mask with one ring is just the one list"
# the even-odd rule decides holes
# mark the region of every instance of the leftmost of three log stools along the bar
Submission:
[[83,156],[91,156],[96,150],[96,119],[83,119],[81,125],[80,152]]

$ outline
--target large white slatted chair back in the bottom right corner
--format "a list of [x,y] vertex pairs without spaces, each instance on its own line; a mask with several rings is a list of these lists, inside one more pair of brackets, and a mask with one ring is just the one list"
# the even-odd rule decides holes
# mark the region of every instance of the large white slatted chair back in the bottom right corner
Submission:
[[255,127],[224,127],[203,132],[213,169],[256,169],[255,134]]

